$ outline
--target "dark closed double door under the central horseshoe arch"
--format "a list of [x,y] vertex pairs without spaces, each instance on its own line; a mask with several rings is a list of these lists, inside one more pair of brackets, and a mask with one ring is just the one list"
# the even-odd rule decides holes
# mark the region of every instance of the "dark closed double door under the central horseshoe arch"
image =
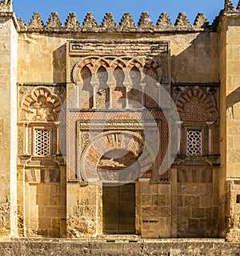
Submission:
[[135,233],[135,184],[102,187],[102,232]]

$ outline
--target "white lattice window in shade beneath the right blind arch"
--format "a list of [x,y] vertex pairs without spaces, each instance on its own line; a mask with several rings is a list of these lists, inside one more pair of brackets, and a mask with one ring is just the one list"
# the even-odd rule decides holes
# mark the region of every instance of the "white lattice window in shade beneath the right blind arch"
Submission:
[[188,130],[186,135],[186,154],[202,155],[202,130]]

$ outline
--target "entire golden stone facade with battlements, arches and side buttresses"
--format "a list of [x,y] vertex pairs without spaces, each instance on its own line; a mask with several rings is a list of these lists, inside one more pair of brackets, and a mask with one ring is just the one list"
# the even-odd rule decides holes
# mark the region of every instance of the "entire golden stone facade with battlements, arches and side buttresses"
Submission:
[[26,25],[0,8],[2,240],[239,242],[239,4],[211,25],[147,12]]

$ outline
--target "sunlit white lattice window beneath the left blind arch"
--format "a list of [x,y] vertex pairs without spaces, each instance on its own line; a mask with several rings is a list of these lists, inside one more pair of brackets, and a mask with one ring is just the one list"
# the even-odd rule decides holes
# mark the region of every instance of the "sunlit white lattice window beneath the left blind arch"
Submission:
[[50,130],[35,130],[35,155],[45,156],[50,154]]

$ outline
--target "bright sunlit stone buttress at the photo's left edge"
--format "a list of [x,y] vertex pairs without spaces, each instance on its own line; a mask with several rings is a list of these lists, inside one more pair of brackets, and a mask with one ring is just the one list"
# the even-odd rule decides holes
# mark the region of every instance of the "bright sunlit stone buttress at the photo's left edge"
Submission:
[[0,236],[17,234],[17,68],[18,34],[11,14],[0,16]]

